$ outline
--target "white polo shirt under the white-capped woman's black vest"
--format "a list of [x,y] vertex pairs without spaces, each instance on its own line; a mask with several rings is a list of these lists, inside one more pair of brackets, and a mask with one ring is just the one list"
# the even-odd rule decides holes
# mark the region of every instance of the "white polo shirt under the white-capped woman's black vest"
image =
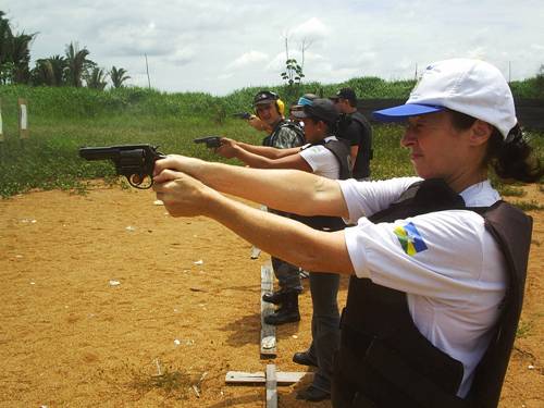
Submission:
[[[346,246],[358,277],[406,292],[418,330],[435,347],[462,362],[458,394],[470,390],[474,369],[491,339],[507,271],[503,254],[473,211],[447,210],[393,223],[366,217],[396,201],[418,177],[378,182],[338,181],[349,210]],[[468,207],[500,199],[489,181],[461,197]]]

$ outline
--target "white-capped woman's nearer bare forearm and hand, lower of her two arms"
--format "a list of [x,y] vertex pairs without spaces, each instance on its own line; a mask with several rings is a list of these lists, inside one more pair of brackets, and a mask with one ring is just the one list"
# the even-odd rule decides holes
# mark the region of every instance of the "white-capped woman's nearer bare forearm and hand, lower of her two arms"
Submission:
[[153,189],[173,217],[209,217],[262,250],[309,271],[354,273],[342,231],[316,231],[257,210],[171,170],[156,177]]

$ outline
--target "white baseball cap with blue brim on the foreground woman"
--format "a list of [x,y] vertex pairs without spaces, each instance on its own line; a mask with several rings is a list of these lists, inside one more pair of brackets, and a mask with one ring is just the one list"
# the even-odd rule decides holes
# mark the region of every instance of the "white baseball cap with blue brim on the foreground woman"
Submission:
[[382,122],[440,112],[445,108],[495,126],[506,139],[516,125],[510,87],[492,64],[470,59],[452,59],[429,65],[405,104],[373,112]]

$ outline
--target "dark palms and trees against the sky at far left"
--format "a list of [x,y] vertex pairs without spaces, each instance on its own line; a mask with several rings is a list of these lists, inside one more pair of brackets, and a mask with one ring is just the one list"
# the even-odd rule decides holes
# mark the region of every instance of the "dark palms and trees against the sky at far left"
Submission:
[[108,78],[114,88],[129,78],[126,70],[112,66],[107,71],[88,58],[87,48],[77,42],[66,45],[64,55],[36,60],[30,69],[30,46],[38,33],[13,33],[5,13],[0,11],[0,84],[34,86],[86,86],[104,89]]

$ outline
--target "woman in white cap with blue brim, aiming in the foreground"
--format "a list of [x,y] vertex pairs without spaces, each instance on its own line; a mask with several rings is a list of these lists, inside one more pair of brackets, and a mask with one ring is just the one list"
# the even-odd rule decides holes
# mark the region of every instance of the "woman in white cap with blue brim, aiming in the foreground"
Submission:
[[[169,157],[158,198],[203,214],[308,270],[353,275],[335,359],[333,406],[495,407],[521,311],[532,220],[500,200],[505,180],[544,171],[503,75],[482,61],[430,65],[408,101],[375,112],[407,122],[418,177],[331,181]],[[197,178],[197,180],[195,180]],[[286,183],[285,180],[289,180]],[[356,226],[317,232],[217,190]]]

